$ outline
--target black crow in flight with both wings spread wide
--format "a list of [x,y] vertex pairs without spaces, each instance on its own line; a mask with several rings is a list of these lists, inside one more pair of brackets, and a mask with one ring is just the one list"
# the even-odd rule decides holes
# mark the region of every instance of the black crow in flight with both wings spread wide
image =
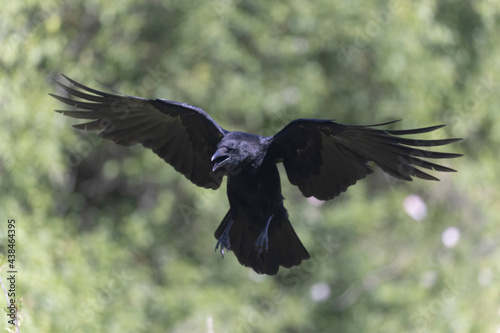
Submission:
[[275,275],[280,267],[310,258],[283,204],[279,163],[305,197],[326,201],[371,174],[372,162],[398,179],[439,180],[422,169],[456,170],[428,160],[462,156],[425,149],[459,138],[404,137],[445,125],[387,130],[380,127],[399,120],[348,125],[300,118],[272,136],[261,136],[228,131],[190,104],[103,92],[62,76],[66,82],[55,83],[65,96],[49,95],[70,107],[56,112],[87,120],[73,127],[100,131],[101,138],[122,146],[141,144],[200,187],[218,189],[227,177],[229,211],[215,231],[215,250],[222,257],[232,251],[258,274]]

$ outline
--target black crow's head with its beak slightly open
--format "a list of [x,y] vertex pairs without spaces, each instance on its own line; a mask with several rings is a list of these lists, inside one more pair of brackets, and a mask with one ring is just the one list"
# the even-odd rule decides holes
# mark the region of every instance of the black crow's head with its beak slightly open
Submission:
[[254,172],[262,164],[267,152],[267,142],[257,135],[231,132],[217,145],[212,156],[212,171],[225,171],[234,175],[242,170]]

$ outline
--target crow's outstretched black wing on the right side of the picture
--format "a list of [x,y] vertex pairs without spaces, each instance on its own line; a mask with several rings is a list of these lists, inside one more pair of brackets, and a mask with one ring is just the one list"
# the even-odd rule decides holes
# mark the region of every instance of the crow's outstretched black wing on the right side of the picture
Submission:
[[288,179],[306,196],[329,200],[372,173],[369,161],[399,179],[438,180],[417,167],[451,172],[425,159],[453,158],[460,154],[433,152],[421,147],[441,146],[461,139],[417,140],[401,135],[434,131],[444,125],[410,130],[380,130],[392,122],[356,126],[330,120],[297,119],[272,137],[270,152],[283,162]]

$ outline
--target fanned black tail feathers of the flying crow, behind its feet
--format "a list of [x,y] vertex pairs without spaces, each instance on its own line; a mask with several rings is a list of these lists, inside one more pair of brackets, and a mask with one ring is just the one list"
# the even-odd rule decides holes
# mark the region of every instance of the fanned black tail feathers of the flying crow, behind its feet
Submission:
[[[215,231],[215,238],[222,235],[231,218],[229,211]],[[238,214],[233,218],[229,230],[230,250],[242,265],[251,267],[259,274],[274,275],[280,266],[290,268],[309,258],[309,253],[288,220],[286,210],[273,216],[268,229],[268,250],[259,254],[255,243],[261,231],[262,223],[251,220],[247,214]]]

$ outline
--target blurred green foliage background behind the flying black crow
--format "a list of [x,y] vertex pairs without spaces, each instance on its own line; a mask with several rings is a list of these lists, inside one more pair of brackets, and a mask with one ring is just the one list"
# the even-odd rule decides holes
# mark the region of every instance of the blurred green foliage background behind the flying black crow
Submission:
[[[5,282],[15,219],[21,331],[498,331],[499,31],[491,0],[2,3],[0,263]],[[59,73],[262,135],[299,117],[445,123],[427,137],[464,137],[444,149],[466,156],[439,183],[376,172],[324,204],[283,173],[311,259],[257,276],[213,251],[225,191],[72,129],[47,95]]]

